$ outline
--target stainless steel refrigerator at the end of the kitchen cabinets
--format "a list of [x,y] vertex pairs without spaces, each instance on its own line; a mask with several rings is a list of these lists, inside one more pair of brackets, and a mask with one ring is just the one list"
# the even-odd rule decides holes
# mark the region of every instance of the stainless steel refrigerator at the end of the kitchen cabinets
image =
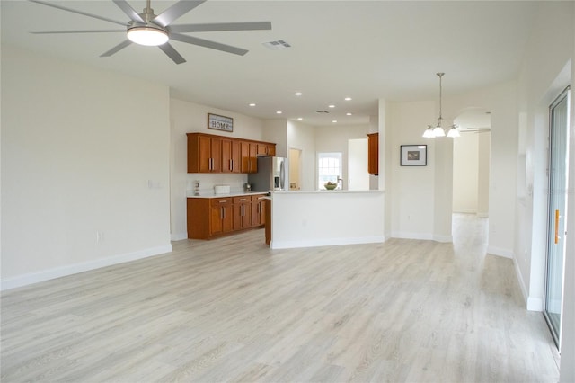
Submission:
[[287,191],[288,158],[258,157],[258,173],[248,174],[252,191]]

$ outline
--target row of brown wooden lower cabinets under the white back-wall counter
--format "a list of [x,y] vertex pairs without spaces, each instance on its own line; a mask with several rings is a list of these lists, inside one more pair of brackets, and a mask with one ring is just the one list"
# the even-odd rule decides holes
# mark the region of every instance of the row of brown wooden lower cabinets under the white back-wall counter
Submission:
[[265,194],[188,198],[188,238],[210,239],[264,225]]

